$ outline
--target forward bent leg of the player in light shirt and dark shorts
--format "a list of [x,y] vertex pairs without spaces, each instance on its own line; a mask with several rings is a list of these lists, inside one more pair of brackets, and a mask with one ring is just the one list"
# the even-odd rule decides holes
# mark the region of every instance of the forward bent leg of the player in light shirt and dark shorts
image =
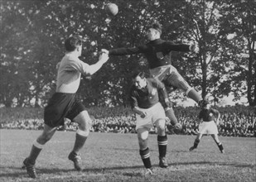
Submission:
[[74,118],[74,122],[79,124],[79,129],[76,131],[75,135],[75,145],[73,150],[68,156],[69,160],[74,162],[75,170],[82,170],[80,165],[80,153],[79,151],[85,145],[85,141],[89,136],[89,128],[91,127],[91,119],[87,111],[81,112]]

